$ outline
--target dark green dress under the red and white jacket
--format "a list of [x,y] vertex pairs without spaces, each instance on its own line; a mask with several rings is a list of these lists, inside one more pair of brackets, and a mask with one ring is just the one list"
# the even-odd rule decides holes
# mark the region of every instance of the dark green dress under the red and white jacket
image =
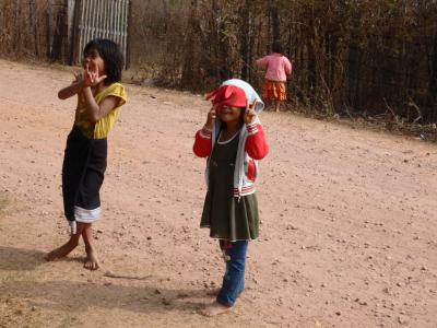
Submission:
[[258,202],[255,194],[234,197],[234,168],[239,133],[216,142],[210,159],[209,186],[203,206],[201,227],[210,236],[225,241],[256,239],[259,231]]

